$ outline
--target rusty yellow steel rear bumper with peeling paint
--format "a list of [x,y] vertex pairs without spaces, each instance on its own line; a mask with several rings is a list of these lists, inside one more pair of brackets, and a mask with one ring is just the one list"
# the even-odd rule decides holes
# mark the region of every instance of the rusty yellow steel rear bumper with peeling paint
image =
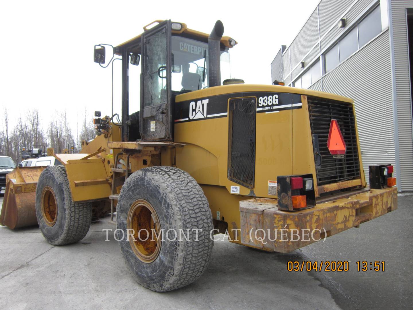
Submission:
[[370,189],[313,208],[280,211],[277,200],[240,201],[241,243],[288,253],[397,209],[397,188]]

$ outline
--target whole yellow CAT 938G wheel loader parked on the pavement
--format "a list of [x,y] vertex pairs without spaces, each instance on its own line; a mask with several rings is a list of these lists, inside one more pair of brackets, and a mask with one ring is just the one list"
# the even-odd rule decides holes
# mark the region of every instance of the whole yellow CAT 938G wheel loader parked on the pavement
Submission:
[[[32,181],[17,177],[22,168],[7,176],[1,223],[12,222],[13,205],[20,217],[19,196],[30,193],[36,203],[26,209],[43,236],[64,245],[81,240],[92,217],[116,212],[116,239],[135,279],[170,291],[204,272],[214,234],[287,253],[395,210],[391,163],[368,167],[366,187],[353,101],[221,83],[237,44],[223,30],[221,21],[209,35],[156,21],[112,47],[121,57],[121,111],[95,112],[96,138],[81,153],[55,154],[63,165]],[[95,45],[102,67],[108,46]],[[136,85],[128,69],[140,60],[140,110],[129,111]]]

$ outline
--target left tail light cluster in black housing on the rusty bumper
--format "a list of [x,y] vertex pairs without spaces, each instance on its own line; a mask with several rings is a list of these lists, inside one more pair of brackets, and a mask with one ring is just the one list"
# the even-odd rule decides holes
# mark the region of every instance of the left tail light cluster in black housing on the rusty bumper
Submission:
[[277,177],[278,209],[294,211],[316,205],[312,174]]

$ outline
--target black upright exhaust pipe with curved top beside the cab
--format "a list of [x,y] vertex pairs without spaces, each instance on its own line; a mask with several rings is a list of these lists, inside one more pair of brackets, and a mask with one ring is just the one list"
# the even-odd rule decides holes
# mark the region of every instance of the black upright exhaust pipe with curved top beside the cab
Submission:
[[221,38],[224,33],[222,21],[217,20],[208,37],[208,87],[221,85]]

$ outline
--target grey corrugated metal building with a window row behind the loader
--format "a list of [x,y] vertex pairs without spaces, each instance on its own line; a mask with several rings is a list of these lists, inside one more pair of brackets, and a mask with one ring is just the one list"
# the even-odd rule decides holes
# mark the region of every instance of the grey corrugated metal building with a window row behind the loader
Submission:
[[392,163],[399,191],[413,191],[412,55],[413,0],[321,0],[271,77],[352,98],[365,173]]

